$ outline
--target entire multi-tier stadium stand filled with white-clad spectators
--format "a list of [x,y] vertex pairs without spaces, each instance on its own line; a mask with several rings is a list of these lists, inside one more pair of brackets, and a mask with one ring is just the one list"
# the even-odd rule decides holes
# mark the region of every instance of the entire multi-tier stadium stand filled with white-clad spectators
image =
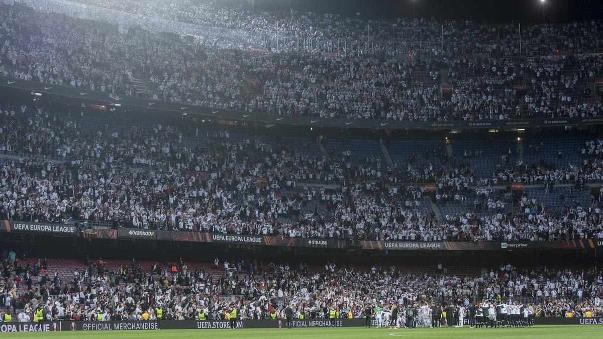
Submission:
[[[602,22],[519,32],[211,1],[3,1],[0,320],[219,320],[233,310],[276,320],[289,307],[297,319],[335,309],[362,318],[397,307],[394,324],[429,327],[436,308],[488,303],[526,318],[505,326],[603,317],[593,256],[602,130],[563,122],[603,115]],[[87,101],[88,91],[111,101]],[[119,108],[124,96],[151,101]],[[159,101],[186,107],[162,116]],[[356,130],[191,117],[189,106],[345,118]],[[545,125],[488,128],[533,118]],[[391,130],[394,121],[475,125],[413,132]],[[32,224],[73,232],[19,232]],[[142,236],[116,236],[126,232]],[[185,236],[159,232],[207,247],[195,253]],[[395,246],[440,247],[406,257]],[[452,265],[436,265],[452,259],[444,249],[459,254]],[[493,264],[506,256],[517,267]]]

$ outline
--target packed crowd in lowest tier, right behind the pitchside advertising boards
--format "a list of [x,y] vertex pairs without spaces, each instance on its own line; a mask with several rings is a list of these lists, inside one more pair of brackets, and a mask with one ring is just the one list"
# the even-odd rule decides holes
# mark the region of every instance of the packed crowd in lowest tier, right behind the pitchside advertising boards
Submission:
[[0,302],[13,321],[154,320],[157,309],[162,319],[224,319],[232,309],[238,319],[280,319],[286,306],[295,318],[328,318],[331,309],[338,317],[363,318],[367,307],[467,307],[476,300],[529,302],[538,317],[603,314],[603,273],[596,268],[517,270],[502,264],[485,276],[455,276],[332,262],[320,268],[216,258],[213,268],[189,268],[182,259],[145,267],[136,259],[119,266],[98,259],[62,276],[52,273],[47,259],[32,261],[13,251],[3,256]]

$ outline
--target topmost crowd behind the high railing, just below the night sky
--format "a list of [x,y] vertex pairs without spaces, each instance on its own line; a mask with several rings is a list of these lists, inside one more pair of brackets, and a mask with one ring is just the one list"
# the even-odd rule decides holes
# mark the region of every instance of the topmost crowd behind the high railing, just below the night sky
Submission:
[[[434,17],[370,20],[294,9],[266,11],[259,8],[252,10],[246,7],[226,7],[212,1],[75,2],[137,14],[147,21],[156,18],[222,29],[224,36],[212,36],[215,43],[223,43],[221,40],[232,39],[229,34],[241,32],[250,36],[268,37],[264,39],[264,44],[267,45],[264,47],[270,51],[300,51],[301,45],[302,50],[308,52],[339,51],[359,55],[377,52],[383,48],[367,46],[367,40],[391,43],[390,48],[399,49],[401,54],[410,52],[415,55],[424,54],[426,57],[470,54],[509,57],[550,54],[555,49],[585,52],[603,47],[597,39],[602,30],[601,22],[596,21],[562,25],[524,24],[520,39],[520,28],[516,23],[493,25],[473,21],[441,22]],[[114,16],[118,17],[115,14]],[[142,23],[142,26],[145,27],[145,24]],[[278,42],[272,43],[270,38]],[[309,45],[310,40],[314,40],[314,45]],[[523,49],[519,45],[520,40],[523,42]],[[396,43],[400,45],[397,46]]]

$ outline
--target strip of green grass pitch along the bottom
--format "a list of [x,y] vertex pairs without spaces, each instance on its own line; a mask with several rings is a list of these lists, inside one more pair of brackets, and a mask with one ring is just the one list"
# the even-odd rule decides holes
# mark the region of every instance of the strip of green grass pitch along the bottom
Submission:
[[298,329],[204,329],[117,332],[21,332],[2,334],[2,338],[603,338],[603,326],[540,325],[533,328],[298,328]]

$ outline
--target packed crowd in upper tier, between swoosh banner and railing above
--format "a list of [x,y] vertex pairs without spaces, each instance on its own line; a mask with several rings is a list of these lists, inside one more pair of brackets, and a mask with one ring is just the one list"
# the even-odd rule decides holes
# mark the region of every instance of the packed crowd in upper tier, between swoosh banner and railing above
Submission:
[[[603,113],[590,90],[601,75],[601,54],[502,60],[472,54],[445,60],[322,57],[225,50],[148,32],[124,34],[103,22],[66,20],[23,7],[3,7],[0,22],[0,74],[119,96],[274,115],[394,121]],[[594,22],[584,25],[585,32],[599,30]],[[534,39],[548,39],[538,36],[547,36],[548,29],[533,29]],[[449,92],[440,90],[442,69]]]

